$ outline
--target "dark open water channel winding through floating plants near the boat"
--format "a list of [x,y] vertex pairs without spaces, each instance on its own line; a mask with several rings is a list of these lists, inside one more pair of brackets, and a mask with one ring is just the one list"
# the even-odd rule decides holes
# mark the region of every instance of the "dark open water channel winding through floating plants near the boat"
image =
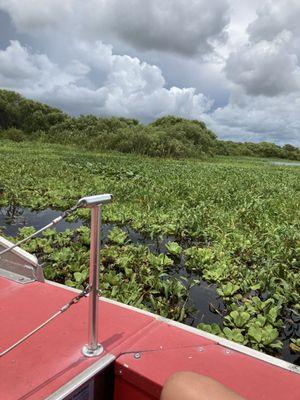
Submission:
[[[28,208],[3,207],[0,208],[0,234],[2,230],[5,235],[16,236],[18,230],[24,226],[33,226],[36,229],[40,229],[59,215],[61,215],[61,212],[52,209],[32,211]],[[87,222],[82,220],[67,222],[63,220],[56,226],[56,230],[58,232],[63,232],[66,229],[76,229],[82,225],[87,225]],[[114,224],[102,224],[102,245],[108,243],[109,232],[115,226]],[[172,236],[151,239],[135,231],[131,227],[121,227],[121,229],[127,233],[131,243],[147,246],[151,252],[157,255],[160,253],[166,254],[166,244],[170,241],[175,241],[175,238]],[[183,243],[180,244],[185,247]],[[217,323],[222,325],[222,314],[225,310],[225,305],[217,294],[217,286],[215,284],[209,284],[200,279],[199,276],[187,272],[183,256],[175,260],[171,275],[180,279],[188,288],[187,307],[191,311],[184,321],[186,324],[197,326],[199,323],[203,322],[206,324]],[[193,280],[198,280],[199,283],[193,286],[191,285]],[[300,317],[297,319],[293,315],[287,315],[286,321],[284,331],[280,337],[283,341],[283,349],[280,353],[280,358],[300,365],[299,355],[293,354],[288,346],[288,339],[290,337],[300,336]]]

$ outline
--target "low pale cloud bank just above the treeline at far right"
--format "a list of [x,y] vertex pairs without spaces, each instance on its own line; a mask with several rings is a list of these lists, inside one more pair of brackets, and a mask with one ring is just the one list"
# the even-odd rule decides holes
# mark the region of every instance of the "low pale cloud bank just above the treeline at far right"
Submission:
[[[204,117],[223,139],[300,144],[300,96],[247,96],[235,92],[230,102]],[[242,134],[241,134],[242,132]]]

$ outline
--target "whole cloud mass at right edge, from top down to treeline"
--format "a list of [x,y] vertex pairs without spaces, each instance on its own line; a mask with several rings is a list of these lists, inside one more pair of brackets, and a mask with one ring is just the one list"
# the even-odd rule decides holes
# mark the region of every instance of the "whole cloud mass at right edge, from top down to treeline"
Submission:
[[[226,139],[300,144],[300,3],[263,2],[223,69],[227,105],[207,116]],[[248,35],[248,36],[247,36]]]

